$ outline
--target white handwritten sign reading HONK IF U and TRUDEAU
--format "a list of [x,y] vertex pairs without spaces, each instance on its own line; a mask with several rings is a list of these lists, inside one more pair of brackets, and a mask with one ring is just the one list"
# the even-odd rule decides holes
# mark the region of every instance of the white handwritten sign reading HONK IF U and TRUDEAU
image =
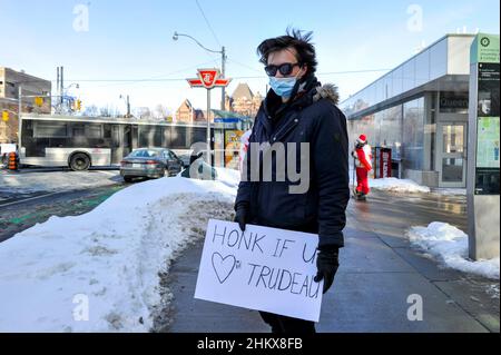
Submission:
[[195,298],[318,322],[318,236],[210,219]]

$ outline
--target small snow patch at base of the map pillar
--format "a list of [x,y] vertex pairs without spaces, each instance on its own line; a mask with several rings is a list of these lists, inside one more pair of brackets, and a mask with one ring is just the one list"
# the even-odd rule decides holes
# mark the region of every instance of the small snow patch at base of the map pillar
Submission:
[[438,257],[449,267],[499,279],[500,258],[470,260],[468,235],[449,224],[433,221],[428,227],[412,227],[409,237],[412,244]]

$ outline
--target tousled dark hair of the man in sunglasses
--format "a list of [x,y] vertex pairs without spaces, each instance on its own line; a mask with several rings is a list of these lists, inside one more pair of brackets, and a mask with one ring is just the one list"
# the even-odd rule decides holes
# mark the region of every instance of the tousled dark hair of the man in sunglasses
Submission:
[[307,65],[306,77],[308,77],[316,71],[316,66],[318,65],[315,47],[311,42],[312,37],[312,31],[304,32],[298,29],[287,28],[285,36],[266,39],[257,47],[257,55],[261,57],[259,61],[266,66],[269,53],[294,48],[297,52],[297,61],[302,65]]

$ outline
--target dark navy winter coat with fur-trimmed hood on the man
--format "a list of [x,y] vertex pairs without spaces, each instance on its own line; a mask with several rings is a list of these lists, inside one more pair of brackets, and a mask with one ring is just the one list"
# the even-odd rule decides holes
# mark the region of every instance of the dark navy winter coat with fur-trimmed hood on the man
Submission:
[[[269,90],[256,116],[249,144],[283,142],[285,157],[287,142],[310,142],[310,186],[304,194],[291,194],[291,181],[277,178],[276,155],[272,155],[272,181],[250,179],[252,155],[249,148],[245,162],[246,181],[238,186],[235,209],[245,204],[250,211],[250,224],[318,234],[323,246],[344,245],[345,209],[350,199],[348,139],[346,118],[335,106],[336,88],[321,86],[314,77],[306,81],[303,91],[287,105]],[[296,171],[299,169],[299,147],[296,149]],[[286,161],[286,160],[285,160]],[[282,164],[287,166],[288,162]],[[263,152],[259,154],[263,165]],[[279,166],[279,165],[278,165]],[[263,167],[259,168],[263,171]]]

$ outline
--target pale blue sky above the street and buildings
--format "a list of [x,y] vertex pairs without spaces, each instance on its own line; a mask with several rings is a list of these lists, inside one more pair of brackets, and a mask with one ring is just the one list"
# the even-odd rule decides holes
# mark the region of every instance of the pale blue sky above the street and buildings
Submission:
[[[78,4],[89,11],[85,31],[73,27],[80,18],[73,13]],[[318,78],[336,83],[343,99],[385,71],[332,72],[392,69],[422,43],[429,46],[458,29],[499,33],[499,10],[497,0],[198,0],[198,4],[196,0],[0,0],[0,23],[8,29],[1,40],[0,66],[53,82],[56,67],[65,66],[66,85],[79,82],[80,89],[72,93],[85,105],[122,110],[119,96],[130,95],[135,107],[161,103],[175,110],[188,98],[205,108],[205,90],[190,89],[183,79],[195,77],[197,68],[219,67],[220,56],[204,51],[188,38],[173,41],[174,31],[188,33],[214,50],[226,47],[226,75],[235,78],[229,93],[238,82],[264,93],[267,79],[256,47],[293,26],[314,32]],[[416,22],[419,13],[422,22]],[[136,81],[89,81],[117,79]],[[219,99],[220,91],[213,90],[214,107]]]

